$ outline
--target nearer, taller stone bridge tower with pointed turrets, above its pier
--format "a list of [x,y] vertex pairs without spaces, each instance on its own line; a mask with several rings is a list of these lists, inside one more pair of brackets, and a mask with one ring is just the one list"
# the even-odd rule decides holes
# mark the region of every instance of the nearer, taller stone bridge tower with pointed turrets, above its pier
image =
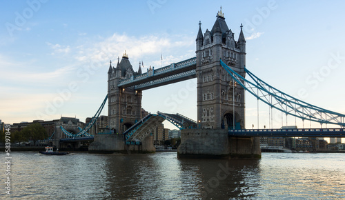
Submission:
[[212,30],[206,30],[204,34],[199,23],[196,39],[197,120],[200,128],[245,128],[244,88],[233,82],[219,59],[244,77],[246,40],[242,25],[239,38],[235,41],[224,13],[220,10],[216,17]]

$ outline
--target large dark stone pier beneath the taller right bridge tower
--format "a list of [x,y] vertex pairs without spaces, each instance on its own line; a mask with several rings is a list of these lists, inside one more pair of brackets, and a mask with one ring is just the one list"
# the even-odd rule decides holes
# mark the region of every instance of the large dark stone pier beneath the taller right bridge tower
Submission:
[[184,129],[177,157],[259,159],[261,150],[257,137],[229,137],[226,129]]

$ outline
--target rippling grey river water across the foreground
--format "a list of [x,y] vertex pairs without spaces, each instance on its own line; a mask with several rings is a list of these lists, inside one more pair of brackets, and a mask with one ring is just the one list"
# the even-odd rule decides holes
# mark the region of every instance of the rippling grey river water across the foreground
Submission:
[[[2,165],[3,182],[6,166]],[[259,160],[176,152],[48,156],[12,152],[1,199],[344,199],[345,154],[262,153]]]

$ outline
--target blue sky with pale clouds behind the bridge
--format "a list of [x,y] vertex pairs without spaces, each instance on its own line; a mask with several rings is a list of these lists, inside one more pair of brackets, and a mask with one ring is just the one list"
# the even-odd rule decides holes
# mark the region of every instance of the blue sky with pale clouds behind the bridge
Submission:
[[[0,0],[0,119],[85,121],[107,92],[109,61],[125,52],[143,72],[195,57],[195,39],[220,10],[246,37],[246,68],[315,106],[345,113],[345,1]],[[162,60],[161,60],[162,57]],[[148,112],[197,119],[196,79],[144,90]],[[104,109],[101,114],[108,114]],[[246,94],[246,128],[268,126],[268,110]],[[280,128],[279,113],[273,126]],[[285,121],[285,119],[284,119]],[[288,126],[302,127],[289,119]],[[285,125],[285,124],[284,124]],[[317,123],[304,126],[319,128]],[[168,128],[173,126],[168,126]]]

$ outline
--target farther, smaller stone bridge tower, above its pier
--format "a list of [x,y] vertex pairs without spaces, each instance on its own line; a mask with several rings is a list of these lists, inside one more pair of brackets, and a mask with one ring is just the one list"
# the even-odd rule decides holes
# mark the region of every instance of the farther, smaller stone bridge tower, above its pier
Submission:
[[142,91],[133,88],[119,88],[119,81],[130,79],[141,74],[139,66],[135,72],[128,60],[128,54],[123,54],[121,61],[117,61],[116,68],[108,70],[108,119],[109,128],[115,133],[123,133],[130,126],[141,119],[141,98]]

